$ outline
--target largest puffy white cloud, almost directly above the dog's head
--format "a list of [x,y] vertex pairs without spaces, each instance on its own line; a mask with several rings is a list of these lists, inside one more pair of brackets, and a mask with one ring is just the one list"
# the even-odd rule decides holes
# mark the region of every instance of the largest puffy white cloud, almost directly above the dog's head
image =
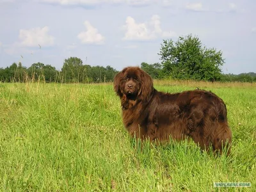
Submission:
[[159,15],[153,15],[150,22],[136,23],[132,17],[127,17],[124,29],[126,30],[124,40],[152,40],[159,36],[173,36],[161,29]]

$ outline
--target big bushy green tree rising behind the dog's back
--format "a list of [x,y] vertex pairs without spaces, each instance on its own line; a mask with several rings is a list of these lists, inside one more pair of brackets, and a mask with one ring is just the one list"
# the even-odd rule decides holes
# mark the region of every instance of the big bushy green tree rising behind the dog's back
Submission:
[[196,36],[180,36],[177,42],[163,40],[159,55],[166,77],[204,81],[221,78],[222,52],[203,47]]

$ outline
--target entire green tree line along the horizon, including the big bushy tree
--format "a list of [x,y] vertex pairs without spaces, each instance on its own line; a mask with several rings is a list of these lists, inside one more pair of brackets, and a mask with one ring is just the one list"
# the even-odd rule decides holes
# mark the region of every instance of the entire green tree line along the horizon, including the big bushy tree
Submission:
[[[141,63],[140,67],[153,79],[192,79],[195,81],[256,81],[256,74],[223,74],[221,67],[225,63],[222,52],[207,48],[197,36],[179,36],[163,40],[158,53],[161,62]],[[33,63],[26,68],[22,63],[13,63],[10,67],[0,68],[0,81],[28,82],[45,81],[46,83],[102,83],[113,81],[118,72],[113,67],[83,65],[80,58],[70,57],[63,63],[61,70],[51,65]]]

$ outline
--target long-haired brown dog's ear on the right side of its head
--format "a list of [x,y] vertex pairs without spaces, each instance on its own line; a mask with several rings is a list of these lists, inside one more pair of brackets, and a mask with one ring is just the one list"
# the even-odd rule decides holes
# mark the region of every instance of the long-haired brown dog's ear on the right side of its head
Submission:
[[139,94],[141,95],[141,99],[148,102],[150,99],[154,87],[153,87],[153,80],[152,78],[145,72],[144,70],[140,69],[141,71],[141,88]]

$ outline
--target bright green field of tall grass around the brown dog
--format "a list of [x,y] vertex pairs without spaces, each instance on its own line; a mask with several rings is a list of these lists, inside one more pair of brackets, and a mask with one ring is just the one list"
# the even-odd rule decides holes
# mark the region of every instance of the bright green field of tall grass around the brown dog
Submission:
[[232,155],[214,158],[188,141],[140,150],[122,125],[112,84],[0,83],[0,191],[255,190],[256,84],[156,81],[155,87],[219,95]]

